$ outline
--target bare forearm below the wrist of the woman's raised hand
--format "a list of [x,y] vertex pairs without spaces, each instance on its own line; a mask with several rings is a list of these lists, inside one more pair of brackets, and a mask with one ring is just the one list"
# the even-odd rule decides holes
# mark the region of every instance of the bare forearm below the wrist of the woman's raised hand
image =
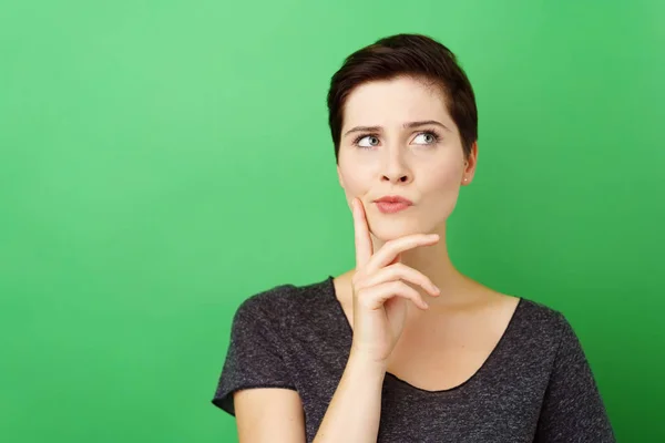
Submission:
[[376,443],[386,368],[351,356],[314,443]]

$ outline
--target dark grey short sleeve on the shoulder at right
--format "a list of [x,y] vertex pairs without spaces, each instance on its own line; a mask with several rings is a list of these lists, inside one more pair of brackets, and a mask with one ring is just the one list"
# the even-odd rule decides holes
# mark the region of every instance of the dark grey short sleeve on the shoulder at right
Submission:
[[560,342],[535,442],[615,443],[605,405],[582,344],[559,312]]

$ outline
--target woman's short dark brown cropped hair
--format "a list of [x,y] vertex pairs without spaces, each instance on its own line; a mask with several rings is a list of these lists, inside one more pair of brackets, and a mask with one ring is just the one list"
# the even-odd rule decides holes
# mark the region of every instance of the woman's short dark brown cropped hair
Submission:
[[346,58],[330,79],[328,124],[339,161],[344,107],[351,91],[362,83],[398,76],[424,79],[438,85],[448,112],[462,140],[464,157],[478,140],[478,109],[471,83],[456,55],[443,44],[423,34],[395,34],[377,40]]

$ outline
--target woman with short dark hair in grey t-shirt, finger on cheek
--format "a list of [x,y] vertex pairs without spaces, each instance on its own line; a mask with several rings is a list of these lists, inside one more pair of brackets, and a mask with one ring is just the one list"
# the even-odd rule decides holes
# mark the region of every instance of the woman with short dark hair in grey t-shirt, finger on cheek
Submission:
[[450,261],[478,161],[473,91],[420,34],[351,54],[329,125],[356,267],[247,299],[213,400],[241,442],[614,442],[564,316]]

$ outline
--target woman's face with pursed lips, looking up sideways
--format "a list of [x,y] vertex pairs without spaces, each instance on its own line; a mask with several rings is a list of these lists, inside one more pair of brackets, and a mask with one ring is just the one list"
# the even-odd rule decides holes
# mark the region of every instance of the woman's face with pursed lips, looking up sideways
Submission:
[[[408,126],[416,122],[430,123]],[[349,207],[354,197],[360,198],[377,238],[444,234],[460,186],[473,177],[477,152],[474,143],[464,158],[459,131],[437,86],[398,78],[365,83],[348,96],[337,172]],[[383,214],[374,200],[388,195],[413,205]]]

